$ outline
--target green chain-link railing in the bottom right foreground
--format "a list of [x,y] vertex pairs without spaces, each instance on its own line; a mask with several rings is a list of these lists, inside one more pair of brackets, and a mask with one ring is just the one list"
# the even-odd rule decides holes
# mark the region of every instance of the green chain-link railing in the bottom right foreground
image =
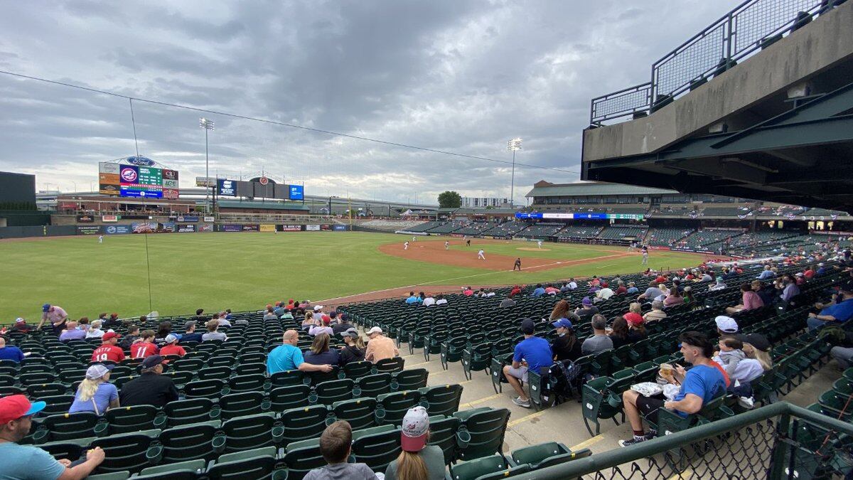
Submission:
[[520,478],[842,478],[853,424],[785,401]]

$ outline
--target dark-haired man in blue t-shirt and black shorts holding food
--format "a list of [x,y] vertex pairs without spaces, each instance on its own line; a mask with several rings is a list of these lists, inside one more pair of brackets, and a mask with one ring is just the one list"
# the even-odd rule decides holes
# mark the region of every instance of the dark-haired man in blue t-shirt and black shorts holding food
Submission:
[[622,404],[625,416],[634,430],[634,437],[629,440],[620,440],[621,447],[628,447],[636,443],[651,440],[658,432],[643,430],[641,415],[653,423],[658,423],[659,408],[675,411],[682,417],[697,413],[705,403],[713,400],[726,390],[726,381],[722,372],[714,366],[711,355],[714,354],[714,345],[704,333],[698,331],[687,331],[678,337],[681,342],[681,352],[684,361],[693,365],[690,370],[685,371],[683,366],[676,365],[671,371],[676,383],[681,384],[678,395],[671,401],[662,398],[663,395],[645,396],[634,390],[625,390],[622,394]]

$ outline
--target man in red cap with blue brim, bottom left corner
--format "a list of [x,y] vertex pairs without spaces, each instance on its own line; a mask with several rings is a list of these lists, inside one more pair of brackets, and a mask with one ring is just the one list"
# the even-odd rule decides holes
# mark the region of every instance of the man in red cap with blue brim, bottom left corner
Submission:
[[0,398],[0,478],[78,480],[104,461],[100,447],[89,450],[84,461],[72,466],[70,460],[55,460],[41,448],[19,445],[30,432],[32,415],[44,407],[44,401],[30,403],[24,395]]

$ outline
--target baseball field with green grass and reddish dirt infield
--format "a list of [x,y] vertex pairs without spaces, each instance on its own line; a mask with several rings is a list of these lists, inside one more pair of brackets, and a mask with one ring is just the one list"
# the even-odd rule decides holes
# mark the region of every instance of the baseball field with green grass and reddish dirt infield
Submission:
[[[409,249],[403,242],[409,241]],[[444,241],[450,245],[445,249]],[[479,249],[486,260],[478,260]],[[522,271],[513,272],[516,258]],[[649,266],[694,266],[701,255],[653,250]],[[624,247],[412,237],[366,232],[117,235],[0,241],[0,323],[40,317],[41,305],[73,318],[235,311],[296,298],[340,303],[450,290],[637,272]],[[150,283],[149,283],[150,274]],[[150,284],[150,287],[149,287]],[[150,291],[150,296],[149,296]],[[365,295],[360,295],[365,294]]]

